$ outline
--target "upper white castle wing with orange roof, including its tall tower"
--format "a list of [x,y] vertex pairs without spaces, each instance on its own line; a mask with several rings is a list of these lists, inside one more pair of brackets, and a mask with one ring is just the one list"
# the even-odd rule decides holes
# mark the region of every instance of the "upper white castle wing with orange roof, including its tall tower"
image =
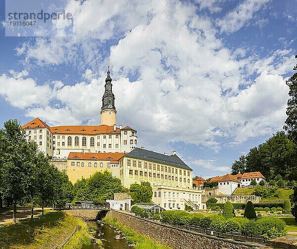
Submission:
[[102,97],[100,125],[49,126],[35,118],[22,126],[49,158],[67,159],[70,152],[130,152],[137,146],[137,131],[116,126],[115,98],[108,68]]

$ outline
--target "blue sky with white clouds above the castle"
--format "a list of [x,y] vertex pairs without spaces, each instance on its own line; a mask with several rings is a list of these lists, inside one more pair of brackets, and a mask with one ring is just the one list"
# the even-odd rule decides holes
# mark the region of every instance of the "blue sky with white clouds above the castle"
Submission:
[[52,3],[73,19],[50,23],[47,36],[6,37],[0,28],[0,125],[37,116],[99,124],[110,61],[117,125],[136,129],[139,146],[176,150],[195,175],[230,172],[282,129],[296,64],[295,0]]

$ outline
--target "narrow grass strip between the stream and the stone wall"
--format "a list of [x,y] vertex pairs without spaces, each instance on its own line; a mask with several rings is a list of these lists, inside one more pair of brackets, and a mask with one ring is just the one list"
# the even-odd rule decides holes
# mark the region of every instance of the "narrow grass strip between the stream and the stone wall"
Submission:
[[127,241],[131,244],[136,244],[134,247],[135,249],[170,249],[169,247],[162,246],[152,241],[148,237],[139,235],[138,233],[132,231],[129,227],[117,222],[115,218],[104,218],[103,221],[123,231],[123,233],[126,235]]

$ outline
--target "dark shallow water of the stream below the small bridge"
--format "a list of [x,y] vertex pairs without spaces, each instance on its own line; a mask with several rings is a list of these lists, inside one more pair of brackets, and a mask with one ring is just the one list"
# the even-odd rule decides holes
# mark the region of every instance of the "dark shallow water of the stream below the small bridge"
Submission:
[[[103,242],[102,247],[104,249],[131,249],[126,244],[126,240],[116,240],[114,239],[114,236],[118,235],[118,233],[115,232],[115,229],[110,227],[107,224],[101,223],[100,221],[89,221],[87,222],[89,225],[93,225],[96,227],[96,231],[93,234],[96,239],[101,239]],[[103,224],[101,226],[101,224]],[[85,246],[83,249],[98,249],[99,246],[96,244],[96,242],[92,242],[91,246]]]

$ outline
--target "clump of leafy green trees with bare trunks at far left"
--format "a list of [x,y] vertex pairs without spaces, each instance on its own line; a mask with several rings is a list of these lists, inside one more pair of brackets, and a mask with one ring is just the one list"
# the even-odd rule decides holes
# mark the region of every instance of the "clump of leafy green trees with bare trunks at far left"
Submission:
[[[72,193],[67,175],[49,165],[35,142],[27,142],[16,119],[6,121],[0,131],[0,171],[0,194],[6,202],[13,203],[14,221],[18,203],[30,202],[33,218],[33,207],[38,199],[42,199],[42,206],[45,200],[61,202],[63,184],[69,187],[67,193]],[[68,194],[64,195],[72,200]]]

